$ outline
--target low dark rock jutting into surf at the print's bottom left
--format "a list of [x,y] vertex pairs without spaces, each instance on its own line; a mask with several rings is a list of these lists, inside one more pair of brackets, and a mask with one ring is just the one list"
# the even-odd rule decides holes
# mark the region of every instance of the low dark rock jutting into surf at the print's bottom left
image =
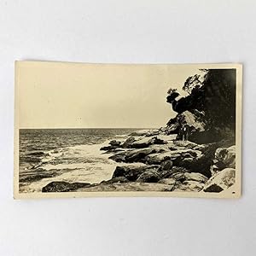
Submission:
[[90,183],[51,182],[43,187],[42,192],[69,192],[89,186]]

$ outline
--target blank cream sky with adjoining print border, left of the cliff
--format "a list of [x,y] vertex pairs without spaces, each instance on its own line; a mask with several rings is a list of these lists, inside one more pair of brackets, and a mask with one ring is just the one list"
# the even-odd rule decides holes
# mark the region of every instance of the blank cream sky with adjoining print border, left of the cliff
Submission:
[[[20,128],[149,128],[174,117],[166,92],[198,66],[19,62]],[[186,93],[183,92],[185,95]]]

